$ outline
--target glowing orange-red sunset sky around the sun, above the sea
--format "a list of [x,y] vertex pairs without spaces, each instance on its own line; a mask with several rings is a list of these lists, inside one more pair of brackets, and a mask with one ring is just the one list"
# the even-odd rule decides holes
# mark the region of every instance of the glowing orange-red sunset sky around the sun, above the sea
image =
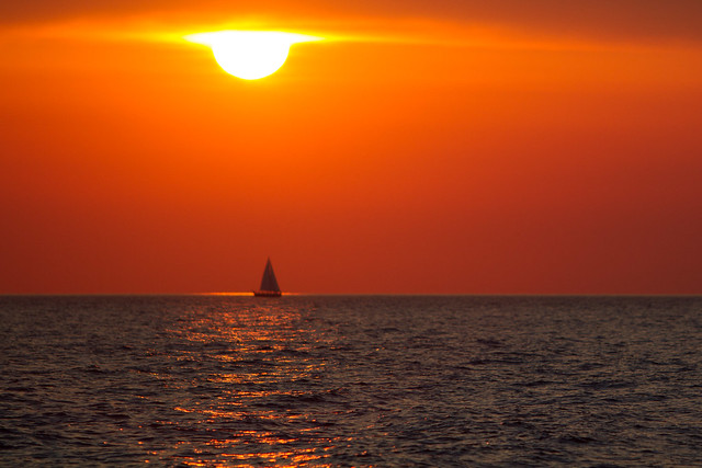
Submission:
[[0,294],[702,294],[698,0],[20,3]]

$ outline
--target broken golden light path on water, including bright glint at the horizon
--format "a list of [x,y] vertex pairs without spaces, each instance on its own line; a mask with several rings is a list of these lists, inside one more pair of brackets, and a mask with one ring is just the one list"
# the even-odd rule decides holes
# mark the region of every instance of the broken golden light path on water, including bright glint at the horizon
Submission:
[[[248,293],[211,296],[240,295],[250,296]],[[185,400],[174,409],[188,414],[196,426],[208,426],[213,433],[218,432],[218,426],[226,426],[229,434],[227,437],[213,434],[204,444],[184,437],[171,447],[178,453],[192,452],[192,456],[181,457],[183,465],[331,466],[324,463],[325,452],[339,441],[320,436],[321,427],[310,421],[309,413],[295,409],[295,401],[314,399],[308,390],[295,390],[296,383],[313,383],[326,366],[319,359],[301,358],[320,343],[309,334],[309,329],[301,327],[299,308],[281,307],[273,300],[239,310],[194,309],[182,318],[181,324],[169,332],[192,351],[180,351],[172,357],[193,364],[203,359],[205,352],[212,367],[206,386],[219,391]],[[273,400],[282,404],[272,403]],[[249,429],[252,426],[257,429]],[[301,438],[308,438],[306,435],[312,433],[315,446],[301,445]],[[226,461],[213,465],[208,448]],[[154,455],[161,458],[165,454]]]

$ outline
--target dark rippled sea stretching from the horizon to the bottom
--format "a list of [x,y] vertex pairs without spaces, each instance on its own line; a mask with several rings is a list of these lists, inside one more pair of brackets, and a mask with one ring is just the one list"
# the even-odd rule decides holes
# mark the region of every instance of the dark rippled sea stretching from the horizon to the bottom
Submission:
[[0,297],[0,465],[702,466],[702,298]]

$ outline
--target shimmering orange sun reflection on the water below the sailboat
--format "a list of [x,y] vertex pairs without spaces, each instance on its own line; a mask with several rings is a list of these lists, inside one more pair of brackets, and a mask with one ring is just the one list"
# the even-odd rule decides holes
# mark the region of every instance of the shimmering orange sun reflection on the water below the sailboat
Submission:
[[[173,336],[171,386],[183,396],[177,444],[158,458],[185,466],[325,465],[332,437],[318,421],[328,390],[318,385],[326,345],[285,300],[219,298],[194,308]],[[182,365],[178,368],[178,365]],[[192,375],[191,375],[192,374]],[[159,421],[169,426],[169,422]]]

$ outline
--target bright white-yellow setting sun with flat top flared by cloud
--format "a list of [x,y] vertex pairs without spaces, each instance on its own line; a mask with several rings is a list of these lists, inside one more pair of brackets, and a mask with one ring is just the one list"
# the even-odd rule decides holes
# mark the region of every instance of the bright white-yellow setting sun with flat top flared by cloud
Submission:
[[185,39],[212,47],[215,60],[227,73],[258,80],[283,66],[291,45],[321,38],[275,31],[217,31],[191,34]]

